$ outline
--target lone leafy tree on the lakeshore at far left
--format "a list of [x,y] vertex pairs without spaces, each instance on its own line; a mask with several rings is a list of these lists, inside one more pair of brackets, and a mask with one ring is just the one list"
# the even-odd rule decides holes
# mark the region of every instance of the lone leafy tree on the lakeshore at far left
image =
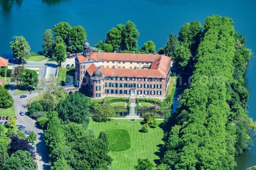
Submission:
[[14,36],[13,39],[14,40],[10,42],[10,47],[13,50],[13,57],[19,58],[19,62],[21,62],[22,59],[29,59],[31,57],[31,48],[26,39],[23,36]]

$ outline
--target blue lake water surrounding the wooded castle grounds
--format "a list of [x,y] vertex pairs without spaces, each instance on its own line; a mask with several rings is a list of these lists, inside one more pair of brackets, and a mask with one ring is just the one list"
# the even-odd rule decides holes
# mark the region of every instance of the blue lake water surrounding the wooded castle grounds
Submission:
[[[248,1],[207,0],[0,0],[0,56],[8,57],[12,51],[9,42],[14,35],[23,35],[31,51],[41,51],[42,34],[60,21],[71,26],[81,25],[87,31],[91,45],[105,40],[106,33],[119,23],[131,20],[140,32],[138,45],[152,40],[156,49],[163,47],[169,34],[178,34],[186,22],[204,23],[207,16],[218,14],[234,20],[235,30],[244,35],[247,47],[256,53],[256,3]],[[256,59],[252,58],[244,75],[245,87],[250,93],[249,116],[256,119]],[[256,165],[255,147],[236,157],[236,169]]]

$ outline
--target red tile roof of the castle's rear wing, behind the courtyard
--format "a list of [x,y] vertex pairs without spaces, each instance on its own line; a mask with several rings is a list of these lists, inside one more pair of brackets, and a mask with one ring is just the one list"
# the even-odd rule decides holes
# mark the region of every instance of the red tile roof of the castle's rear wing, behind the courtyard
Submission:
[[153,62],[159,54],[132,54],[132,53],[94,53],[102,60],[119,60],[119,61],[138,61],[138,62]]

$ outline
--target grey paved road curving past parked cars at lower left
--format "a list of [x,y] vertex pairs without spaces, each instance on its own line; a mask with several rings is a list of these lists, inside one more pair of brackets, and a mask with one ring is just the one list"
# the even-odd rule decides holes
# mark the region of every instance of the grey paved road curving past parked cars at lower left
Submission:
[[[27,127],[28,130],[34,131],[37,135],[37,141],[36,141],[36,152],[37,152],[37,164],[39,170],[49,170],[50,164],[49,164],[49,153],[46,148],[43,136],[44,132],[35,124],[36,121],[31,119],[27,114],[27,101],[35,96],[37,96],[38,93],[32,93],[27,94],[27,98],[20,98],[19,96],[14,96],[14,107],[15,107],[15,113],[18,119],[21,121],[21,123]],[[25,115],[21,116],[19,112],[23,110]]]

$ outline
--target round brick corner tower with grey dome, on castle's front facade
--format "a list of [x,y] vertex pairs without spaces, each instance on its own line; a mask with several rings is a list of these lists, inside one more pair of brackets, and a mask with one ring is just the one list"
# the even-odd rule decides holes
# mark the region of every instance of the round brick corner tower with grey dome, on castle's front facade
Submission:
[[91,77],[91,84],[92,86],[92,98],[102,98],[104,97],[104,88],[103,88],[103,81],[104,77],[102,73],[97,69],[93,72]]

